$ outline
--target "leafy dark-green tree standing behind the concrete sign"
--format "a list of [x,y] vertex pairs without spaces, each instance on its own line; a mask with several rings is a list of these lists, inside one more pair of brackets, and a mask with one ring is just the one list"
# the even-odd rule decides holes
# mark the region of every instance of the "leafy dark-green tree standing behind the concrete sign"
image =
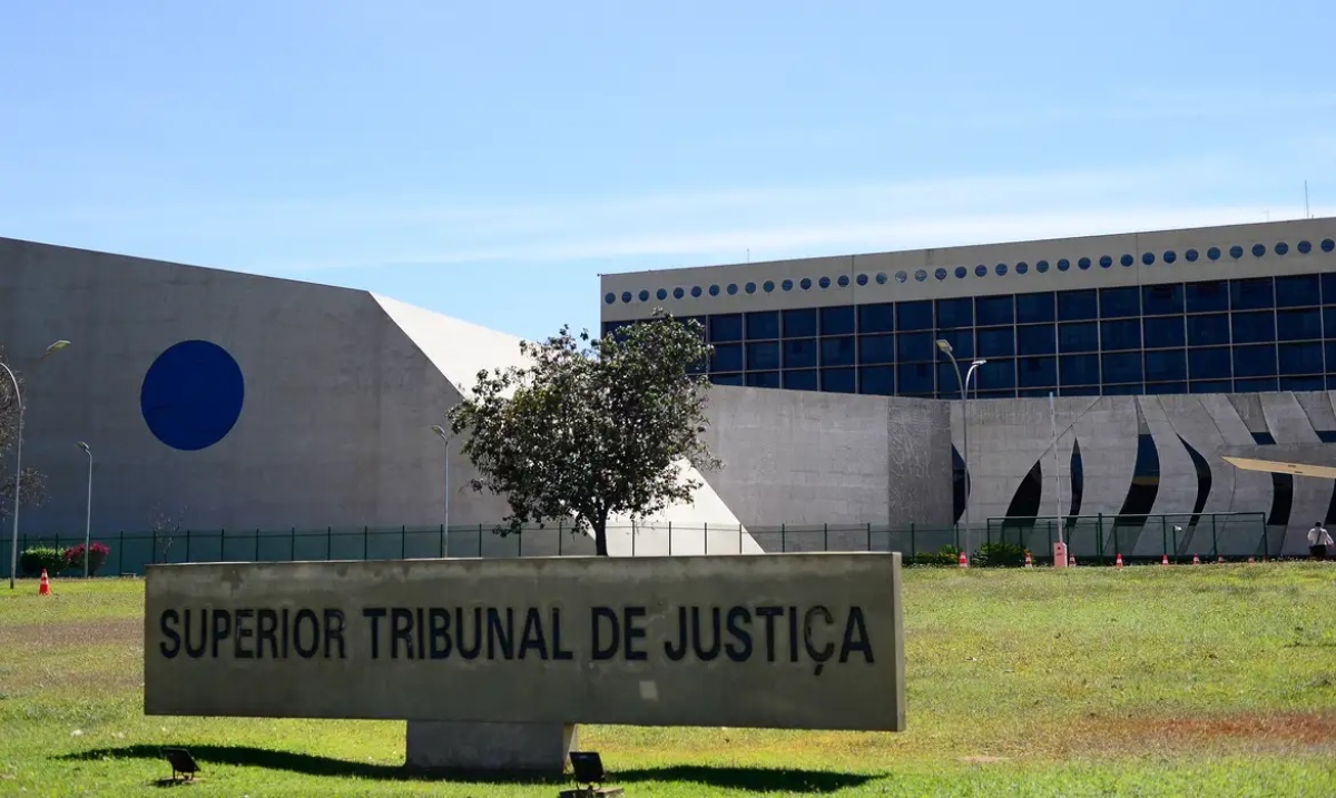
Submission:
[[697,322],[656,311],[603,339],[564,326],[520,350],[525,366],[480,371],[448,414],[466,435],[474,490],[510,507],[498,534],[569,520],[607,556],[609,516],[691,502],[700,482],[681,475],[684,460],[720,467],[701,440],[709,383],[692,371],[712,350]]

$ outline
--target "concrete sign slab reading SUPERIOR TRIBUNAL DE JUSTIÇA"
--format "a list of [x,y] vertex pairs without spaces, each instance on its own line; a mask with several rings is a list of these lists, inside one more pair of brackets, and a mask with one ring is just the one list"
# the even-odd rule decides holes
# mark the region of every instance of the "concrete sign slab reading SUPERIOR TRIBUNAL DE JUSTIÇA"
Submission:
[[899,554],[150,566],[144,713],[904,729]]

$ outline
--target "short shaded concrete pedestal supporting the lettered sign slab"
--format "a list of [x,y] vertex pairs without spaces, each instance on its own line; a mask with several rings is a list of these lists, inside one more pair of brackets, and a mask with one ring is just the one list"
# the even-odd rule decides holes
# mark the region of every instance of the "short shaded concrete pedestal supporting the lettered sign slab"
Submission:
[[409,721],[405,767],[420,773],[561,775],[576,726]]

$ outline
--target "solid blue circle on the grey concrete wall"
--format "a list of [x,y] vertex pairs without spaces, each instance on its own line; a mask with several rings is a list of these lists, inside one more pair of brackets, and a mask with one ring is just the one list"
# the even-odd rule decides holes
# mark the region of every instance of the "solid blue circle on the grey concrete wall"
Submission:
[[158,440],[199,451],[232,431],[244,398],[246,380],[227,350],[208,340],[183,340],[144,372],[139,411]]

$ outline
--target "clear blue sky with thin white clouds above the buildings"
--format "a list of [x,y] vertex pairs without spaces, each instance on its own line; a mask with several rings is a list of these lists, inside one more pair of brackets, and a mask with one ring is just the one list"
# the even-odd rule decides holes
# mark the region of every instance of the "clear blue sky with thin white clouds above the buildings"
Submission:
[[599,272],[1336,215],[1331,0],[4,4],[0,235],[524,336]]

